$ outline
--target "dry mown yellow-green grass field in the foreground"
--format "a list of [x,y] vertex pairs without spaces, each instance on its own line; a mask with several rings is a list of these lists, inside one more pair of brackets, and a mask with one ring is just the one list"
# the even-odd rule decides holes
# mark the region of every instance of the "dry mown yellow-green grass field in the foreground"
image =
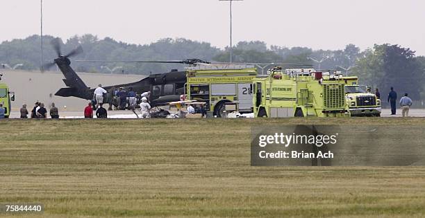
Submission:
[[1,120],[0,202],[43,203],[33,217],[425,216],[425,167],[250,166],[251,126],[300,123],[425,118]]

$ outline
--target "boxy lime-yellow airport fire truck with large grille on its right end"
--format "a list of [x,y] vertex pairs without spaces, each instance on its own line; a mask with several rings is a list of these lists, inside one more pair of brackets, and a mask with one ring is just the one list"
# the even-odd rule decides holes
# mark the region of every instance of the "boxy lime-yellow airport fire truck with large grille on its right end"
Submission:
[[347,117],[342,75],[276,67],[253,80],[255,117]]

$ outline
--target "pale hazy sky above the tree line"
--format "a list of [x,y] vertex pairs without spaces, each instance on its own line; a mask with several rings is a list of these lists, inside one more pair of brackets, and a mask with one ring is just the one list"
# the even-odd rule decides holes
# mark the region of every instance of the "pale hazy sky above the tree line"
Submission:
[[[228,2],[219,0],[44,0],[44,34],[92,33],[149,44],[185,37],[224,48]],[[40,34],[40,0],[0,1],[0,41]],[[233,1],[233,43],[339,49],[400,44],[425,55],[424,0]]]

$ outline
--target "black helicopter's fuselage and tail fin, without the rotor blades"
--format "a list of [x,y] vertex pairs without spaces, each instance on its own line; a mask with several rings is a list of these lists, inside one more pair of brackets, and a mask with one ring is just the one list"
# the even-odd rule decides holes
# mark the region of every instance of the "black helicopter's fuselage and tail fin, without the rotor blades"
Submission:
[[[83,80],[72,69],[70,60],[67,57],[58,57],[54,62],[65,76],[63,82],[67,85],[67,88],[59,89],[55,95],[62,97],[74,96],[76,98],[92,100],[94,89],[90,89],[90,87],[85,85]],[[108,91],[106,102],[110,105],[113,103],[113,93],[120,87],[126,91],[131,87],[138,94],[151,91],[149,100],[151,106],[155,107],[163,105],[166,102],[179,100],[180,96],[184,93],[185,83],[185,71],[171,71],[169,73],[151,74],[147,78],[137,82],[115,84],[113,86],[103,87],[103,89]]]

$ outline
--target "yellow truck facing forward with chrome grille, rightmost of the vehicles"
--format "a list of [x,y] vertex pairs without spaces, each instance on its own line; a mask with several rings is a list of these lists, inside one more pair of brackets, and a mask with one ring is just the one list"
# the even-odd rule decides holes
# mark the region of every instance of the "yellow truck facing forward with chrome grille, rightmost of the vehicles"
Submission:
[[350,116],[381,116],[381,100],[366,86],[358,85],[356,76],[343,78],[345,81],[345,98]]

